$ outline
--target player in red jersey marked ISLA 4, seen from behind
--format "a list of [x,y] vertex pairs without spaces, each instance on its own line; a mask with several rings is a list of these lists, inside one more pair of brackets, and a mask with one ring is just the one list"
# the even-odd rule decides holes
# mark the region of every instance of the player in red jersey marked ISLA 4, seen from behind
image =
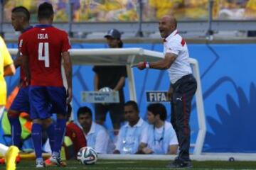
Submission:
[[[50,142],[53,142],[50,162],[65,166],[60,159],[60,148],[65,135],[66,108],[72,99],[72,64],[68,34],[52,26],[53,6],[44,2],[38,7],[38,22],[23,33],[21,52],[23,67],[29,89],[30,114],[33,120],[32,139],[36,152],[36,167],[43,167],[42,129],[47,130]],[[61,62],[65,69],[67,91],[63,86]],[[50,113],[57,113],[54,128]]]

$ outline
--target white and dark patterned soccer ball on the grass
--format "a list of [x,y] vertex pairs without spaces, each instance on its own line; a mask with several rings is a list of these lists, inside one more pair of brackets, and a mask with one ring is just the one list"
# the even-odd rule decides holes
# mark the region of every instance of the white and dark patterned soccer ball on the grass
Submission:
[[78,152],[78,161],[81,164],[95,164],[97,161],[97,153],[91,147],[82,147]]

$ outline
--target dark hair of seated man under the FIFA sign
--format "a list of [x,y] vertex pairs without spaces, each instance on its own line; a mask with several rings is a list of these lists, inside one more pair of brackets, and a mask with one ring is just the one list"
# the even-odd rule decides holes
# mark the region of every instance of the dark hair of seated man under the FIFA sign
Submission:
[[155,116],[159,115],[161,120],[166,120],[167,112],[166,107],[161,103],[153,103],[147,107],[147,110],[153,113]]

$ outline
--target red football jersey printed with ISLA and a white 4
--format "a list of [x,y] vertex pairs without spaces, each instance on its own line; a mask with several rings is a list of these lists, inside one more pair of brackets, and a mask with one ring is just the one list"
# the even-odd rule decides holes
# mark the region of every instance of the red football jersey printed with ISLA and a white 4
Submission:
[[21,52],[28,56],[31,86],[63,86],[61,55],[68,52],[68,34],[50,25],[23,33]]

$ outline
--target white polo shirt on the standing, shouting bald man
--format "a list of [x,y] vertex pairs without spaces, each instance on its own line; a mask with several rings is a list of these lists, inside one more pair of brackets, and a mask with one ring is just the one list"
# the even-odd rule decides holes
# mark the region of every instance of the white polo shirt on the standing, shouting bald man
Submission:
[[181,77],[192,73],[188,58],[188,47],[185,40],[178,34],[178,30],[174,30],[164,42],[164,55],[173,53],[178,55],[171,67],[168,69],[170,81],[174,84]]

